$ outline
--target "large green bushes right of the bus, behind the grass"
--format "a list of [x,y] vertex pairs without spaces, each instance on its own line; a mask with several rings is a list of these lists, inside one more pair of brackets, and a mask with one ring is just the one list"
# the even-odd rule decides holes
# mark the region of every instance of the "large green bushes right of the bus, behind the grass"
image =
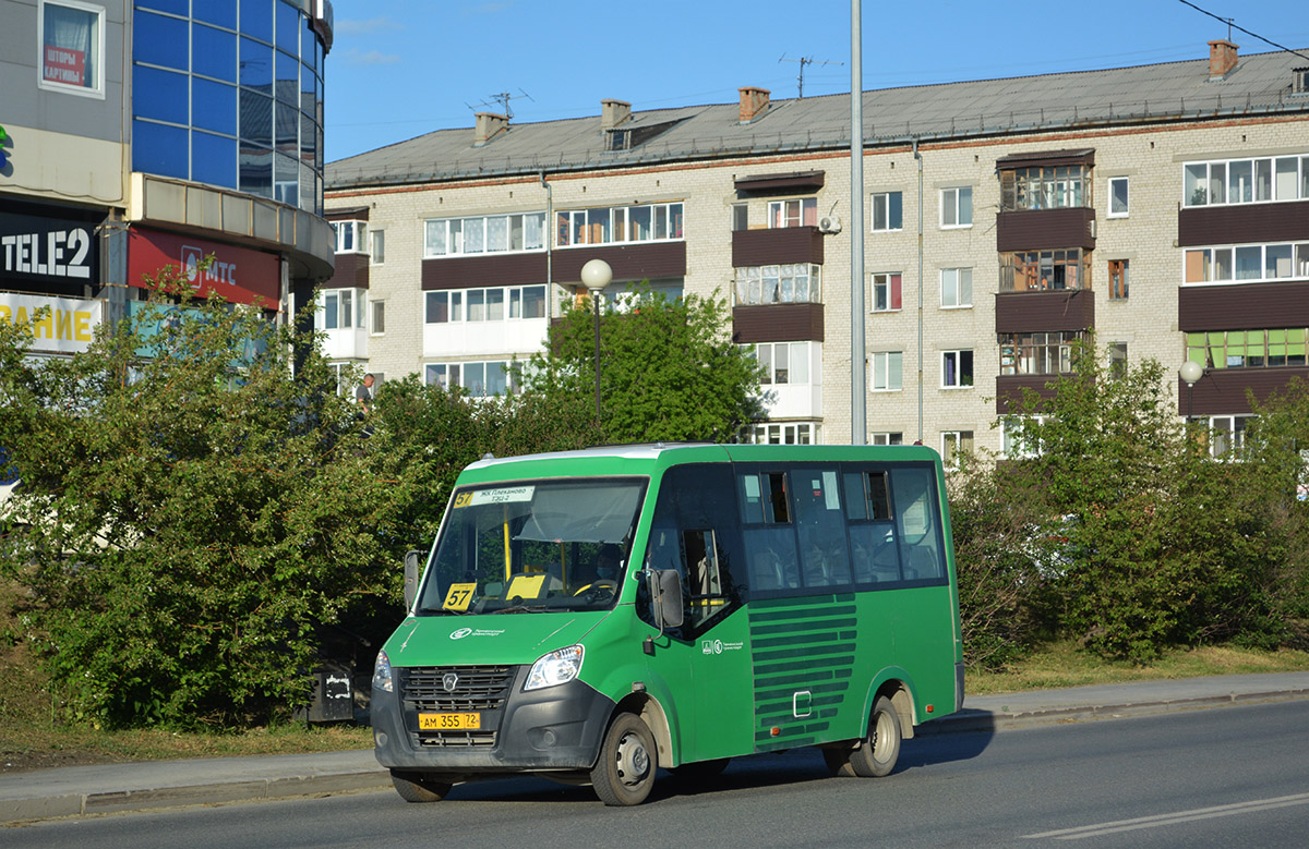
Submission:
[[[1052,396],[1029,391],[1008,423],[1022,459],[979,463],[957,484],[1024,517],[987,521],[992,502],[973,500],[980,518],[957,519],[961,548],[977,557],[990,544],[1030,561],[1025,602],[1110,657],[1145,661],[1168,646],[1233,638],[1276,644],[1285,634],[1275,603],[1284,552],[1305,540],[1285,517],[1279,525],[1287,498],[1268,466],[1292,464],[1284,447],[1266,445],[1261,462],[1215,460],[1203,425],[1178,423],[1157,362],[1111,373],[1105,358],[1086,345],[1077,373],[1051,381]],[[1284,493],[1287,480],[1279,485]],[[1004,574],[982,569],[990,582]]]

